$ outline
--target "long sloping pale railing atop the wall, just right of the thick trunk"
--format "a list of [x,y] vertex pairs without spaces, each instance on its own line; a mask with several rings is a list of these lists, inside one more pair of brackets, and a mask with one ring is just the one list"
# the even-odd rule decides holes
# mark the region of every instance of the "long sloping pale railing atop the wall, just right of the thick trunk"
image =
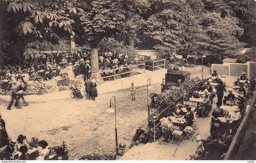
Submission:
[[[142,68],[140,68],[140,67],[142,67]],[[135,70],[135,68],[143,69],[143,71],[145,73],[145,69],[146,69],[145,63],[130,64],[129,66],[126,66],[123,68],[116,68],[116,69],[100,71],[99,73],[102,75],[103,79],[110,78],[110,77],[113,77],[115,79],[119,75],[129,74],[131,76],[134,72],[138,72]]]

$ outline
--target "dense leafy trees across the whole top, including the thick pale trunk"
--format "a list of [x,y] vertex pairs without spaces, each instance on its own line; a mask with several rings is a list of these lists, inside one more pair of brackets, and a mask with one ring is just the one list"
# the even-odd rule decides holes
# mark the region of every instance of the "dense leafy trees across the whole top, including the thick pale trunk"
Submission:
[[254,0],[8,0],[0,15],[1,64],[66,50],[71,36],[93,71],[102,44],[220,59],[256,45]]

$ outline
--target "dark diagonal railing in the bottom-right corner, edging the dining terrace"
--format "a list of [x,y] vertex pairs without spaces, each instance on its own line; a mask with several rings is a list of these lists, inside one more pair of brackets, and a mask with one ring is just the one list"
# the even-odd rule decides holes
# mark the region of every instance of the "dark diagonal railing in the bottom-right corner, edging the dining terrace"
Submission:
[[[242,120],[240,126],[238,127],[238,130],[236,131],[236,134],[233,137],[233,140],[231,142],[229,150],[226,153],[224,160],[235,159],[235,156],[237,156],[237,154],[238,154],[238,148],[240,147],[243,137],[246,134],[245,131],[247,130],[249,122],[252,119],[252,114],[254,114],[254,113],[252,113],[252,111],[255,111],[254,105],[255,105],[255,101],[256,101],[256,94],[254,95],[253,98],[254,99],[251,102],[248,113],[246,113],[246,115],[244,116],[244,119]],[[251,139],[253,139],[253,137],[251,137]]]

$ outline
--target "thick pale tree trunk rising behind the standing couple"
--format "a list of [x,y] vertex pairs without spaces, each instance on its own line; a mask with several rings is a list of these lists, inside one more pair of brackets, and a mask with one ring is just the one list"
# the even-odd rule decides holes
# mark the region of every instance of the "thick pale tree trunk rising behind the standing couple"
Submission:
[[91,45],[91,72],[99,72],[98,43]]

